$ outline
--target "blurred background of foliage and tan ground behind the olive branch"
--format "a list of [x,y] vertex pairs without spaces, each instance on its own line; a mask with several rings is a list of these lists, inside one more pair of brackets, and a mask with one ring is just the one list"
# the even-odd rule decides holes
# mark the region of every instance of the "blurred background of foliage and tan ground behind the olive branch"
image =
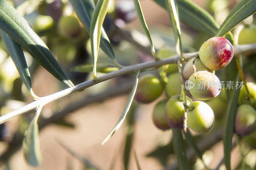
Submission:
[[[208,11],[221,25],[236,0],[193,0]],[[76,17],[68,0],[8,0],[24,17],[31,27],[44,40],[61,68],[76,85],[92,79],[92,74],[83,64],[91,64],[89,34]],[[148,24],[158,56],[164,58],[175,54],[174,36],[168,13],[151,0],[141,0],[141,7]],[[252,26],[255,21],[249,17],[242,24]],[[133,1],[111,0],[103,23],[113,46],[117,61],[132,65],[153,60],[148,40],[134,10]],[[199,33],[181,23],[181,39],[184,52],[198,51],[210,37]],[[242,40],[241,40],[242,41]],[[256,42],[256,41],[255,41]],[[241,42],[242,43],[242,42]],[[18,71],[8,56],[0,40],[0,114],[32,102]],[[32,79],[34,93],[47,96],[66,88],[56,78],[24,51]],[[252,55],[254,54],[245,54]],[[111,60],[103,51],[99,51],[98,62],[111,66]],[[233,62],[233,66],[234,66]],[[80,65],[79,67],[77,67]],[[82,66],[81,66],[82,65]],[[230,63],[232,66],[232,63]],[[253,67],[253,66],[251,66]],[[171,87],[171,95],[180,94],[180,82],[177,78],[177,65],[173,65],[167,76],[176,79]],[[230,67],[229,67],[230,68]],[[90,69],[89,69],[90,70]],[[102,75],[109,70],[101,70]],[[216,71],[220,81],[225,70]],[[160,77],[161,68],[148,71]],[[143,74],[148,74],[143,72]],[[245,70],[247,81],[255,81],[255,70]],[[0,125],[1,169],[84,169],[79,159],[87,159],[99,169],[137,169],[134,157],[136,152],[141,169],[178,169],[172,149],[172,130],[160,130],[152,121],[152,111],[156,103],[169,96],[164,92],[156,101],[149,104],[133,103],[126,120],[110,140],[101,145],[103,139],[115,126],[130,95],[134,75],[113,78],[75,92],[63,99],[44,106],[40,118],[40,148],[43,164],[40,167],[29,166],[20,149],[23,134],[35,111],[20,115]],[[188,94],[189,95],[189,94]],[[169,96],[170,97],[170,96]],[[213,129],[195,136],[203,153],[205,164],[214,169],[223,158],[222,132],[226,114],[225,92],[206,101],[216,116]],[[57,116],[56,116],[57,115]],[[256,133],[244,138],[240,147],[232,150],[232,169],[252,169],[256,163]],[[204,169],[196,153],[187,145],[187,156],[193,169]],[[73,155],[70,153],[72,152]],[[241,156],[243,154],[243,156]],[[243,158],[243,159],[242,159]],[[220,169],[225,169],[221,166]]]

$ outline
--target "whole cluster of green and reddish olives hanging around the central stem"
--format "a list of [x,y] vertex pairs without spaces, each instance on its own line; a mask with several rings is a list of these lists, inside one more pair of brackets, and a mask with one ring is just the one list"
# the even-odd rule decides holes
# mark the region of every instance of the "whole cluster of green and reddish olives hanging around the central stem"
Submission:
[[[160,51],[159,53],[164,52]],[[183,77],[185,81],[187,80],[186,83],[193,84],[188,90],[194,98],[209,100],[215,98],[221,90],[220,80],[214,75],[214,71],[220,70],[230,63],[234,55],[234,49],[227,39],[213,37],[204,42],[198,55],[199,57],[186,63],[183,69]],[[149,103],[156,100],[165,90],[169,100],[159,101],[153,110],[153,121],[158,128],[163,130],[183,128],[184,104],[179,95],[181,91],[180,74],[175,72],[178,68],[175,65],[172,64],[171,67],[175,69],[171,71],[168,71],[170,66],[163,66],[167,73],[171,73],[168,76],[169,81],[164,85],[155,76],[144,76],[140,79],[135,94],[137,101]],[[200,88],[200,85],[204,85],[203,88]],[[186,99],[188,127],[197,133],[210,131],[215,122],[212,108],[202,101],[193,102],[188,96],[186,96]]]

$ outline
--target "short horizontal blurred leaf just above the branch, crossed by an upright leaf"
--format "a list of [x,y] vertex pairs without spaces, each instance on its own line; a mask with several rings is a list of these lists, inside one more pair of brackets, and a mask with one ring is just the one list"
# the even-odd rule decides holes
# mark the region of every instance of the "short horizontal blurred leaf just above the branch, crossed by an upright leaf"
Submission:
[[[88,72],[92,72],[92,70],[93,70],[93,64],[77,65],[70,69],[70,71],[79,72],[79,73],[88,73]],[[97,68],[96,68],[97,72],[109,73],[116,70],[118,70],[118,68],[111,63],[97,62]]]

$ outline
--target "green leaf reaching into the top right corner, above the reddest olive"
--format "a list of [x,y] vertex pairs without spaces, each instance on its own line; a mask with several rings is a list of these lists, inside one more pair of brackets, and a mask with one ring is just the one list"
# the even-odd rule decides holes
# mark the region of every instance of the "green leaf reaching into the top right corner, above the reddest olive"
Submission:
[[256,12],[256,0],[241,0],[229,12],[227,18],[223,21],[216,36],[224,36],[235,26],[241,23]]

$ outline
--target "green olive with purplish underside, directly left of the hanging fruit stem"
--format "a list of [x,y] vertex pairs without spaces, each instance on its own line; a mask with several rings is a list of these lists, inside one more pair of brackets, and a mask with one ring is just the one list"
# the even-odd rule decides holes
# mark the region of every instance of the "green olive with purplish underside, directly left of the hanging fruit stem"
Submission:
[[[186,96],[187,104],[192,103],[192,100]],[[184,117],[184,105],[180,95],[172,96],[165,105],[166,122],[174,129],[182,129]]]

